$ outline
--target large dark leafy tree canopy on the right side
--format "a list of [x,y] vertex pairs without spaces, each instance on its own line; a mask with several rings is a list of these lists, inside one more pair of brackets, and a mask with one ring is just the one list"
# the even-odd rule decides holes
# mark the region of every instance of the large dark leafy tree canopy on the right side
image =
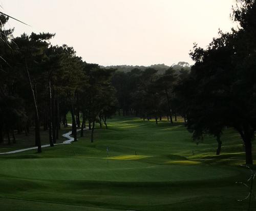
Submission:
[[211,134],[221,145],[223,128],[233,127],[244,142],[246,164],[252,164],[251,142],[256,129],[255,8],[255,1],[237,0],[233,19],[240,28],[231,33],[220,31],[206,49],[195,45],[190,52],[195,65],[180,84],[190,89],[183,96],[187,127],[194,138]]

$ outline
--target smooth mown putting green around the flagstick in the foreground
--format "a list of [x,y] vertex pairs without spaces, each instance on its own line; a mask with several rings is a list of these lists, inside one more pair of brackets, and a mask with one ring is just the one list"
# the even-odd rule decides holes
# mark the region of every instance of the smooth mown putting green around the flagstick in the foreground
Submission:
[[238,174],[232,168],[183,165],[183,161],[173,163],[175,165],[166,166],[138,160],[110,160],[108,164],[105,159],[19,159],[2,161],[1,174],[27,179],[126,182],[207,180]]

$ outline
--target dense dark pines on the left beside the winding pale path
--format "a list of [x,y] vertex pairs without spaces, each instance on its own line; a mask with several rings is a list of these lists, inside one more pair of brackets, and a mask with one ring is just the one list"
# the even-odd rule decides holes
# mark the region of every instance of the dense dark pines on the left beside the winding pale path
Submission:
[[[40,147],[40,128],[49,129],[49,142],[54,146],[59,138],[60,124],[67,126],[66,115],[71,112],[72,132],[77,140],[86,121],[109,118],[116,107],[111,76],[97,64],[88,64],[73,47],[53,46],[54,34],[23,34],[13,38],[13,30],[5,30],[8,17],[1,15],[0,25],[0,143],[7,137],[15,143],[15,133],[28,134],[35,128],[35,145]],[[80,116],[82,123],[80,125]]]

